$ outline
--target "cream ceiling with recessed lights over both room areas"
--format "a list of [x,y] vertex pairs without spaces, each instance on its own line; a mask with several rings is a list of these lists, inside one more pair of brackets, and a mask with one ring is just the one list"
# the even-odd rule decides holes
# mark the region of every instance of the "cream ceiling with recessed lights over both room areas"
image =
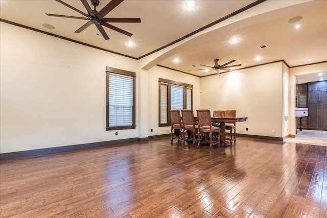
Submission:
[[[63,2],[87,13],[81,1]],[[87,2],[91,6],[90,1]],[[100,0],[97,11],[109,2]],[[196,70],[206,68],[199,64],[214,66],[216,58],[220,59],[220,65],[235,59],[231,65],[242,64],[237,68],[280,60],[291,67],[327,61],[327,1],[265,1],[222,22],[217,20],[256,1],[197,0],[192,9],[185,7],[186,2],[125,0],[105,17],[141,18],[141,23],[111,23],[133,35],[129,37],[104,27],[109,40],[100,33],[97,35],[95,25],[81,33],[74,33],[87,22],[85,20],[45,15],[83,17],[54,0],[1,0],[0,18],[136,59],[156,50],[163,51],[162,47],[172,44],[169,52],[165,51],[165,55],[155,59],[155,64],[199,77],[216,74],[215,70],[206,74],[203,70]],[[289,23],[289,19],[295,16],[302,16],[302,19]],[[216,25],[205,28],[215,21]],[[42,23],[48,23],[55,29],[47,29]],[[301,28],[295,30],[297,23]],[[203,30],[197,32],[201,28]],[[190,37],[185,37],[188,34]],[[238,37],[238,43],[231,44],[232,37]],[[185,39],[175,43],[181,38]],[[128,41],[135,46],[127,46]],[[268,48],[260,49],[263,44]],[[255,61],[256,56],[261,56],[262,60]],[[179,58],[180,62],[175,63],[175,58]],[[309,58],[311,62],[308,62]],[[326,74],[323,77],[327,80]]]

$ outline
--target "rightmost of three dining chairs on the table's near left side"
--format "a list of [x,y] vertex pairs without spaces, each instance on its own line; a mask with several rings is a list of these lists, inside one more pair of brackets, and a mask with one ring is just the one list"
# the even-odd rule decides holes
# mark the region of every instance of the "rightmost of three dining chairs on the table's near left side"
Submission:
[[[218,144],[220,143],[220,128],[212,125],[210,110],[201,109],[201,110],[196,110],[196,112],[198,115],[198,126],[199,126],[198,147],[200,147],[201,132],[204,132],[204,133],[209,133],[210,149],[212,149],[213,148],[213,133],[215,133],[215,132],[218,133],[218,137],[217,137],[218,141],[217,142],[218,142]],[[204,140],[206,140],[206,137],[204,137]]]

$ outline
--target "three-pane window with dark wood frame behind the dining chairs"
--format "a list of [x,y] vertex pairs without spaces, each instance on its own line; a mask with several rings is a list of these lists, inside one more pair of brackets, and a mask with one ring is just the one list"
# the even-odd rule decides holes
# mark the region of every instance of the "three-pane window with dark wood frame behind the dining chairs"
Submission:
[[170,126],[170,110],[193,108],[193,85],[159,78],[159,127]]

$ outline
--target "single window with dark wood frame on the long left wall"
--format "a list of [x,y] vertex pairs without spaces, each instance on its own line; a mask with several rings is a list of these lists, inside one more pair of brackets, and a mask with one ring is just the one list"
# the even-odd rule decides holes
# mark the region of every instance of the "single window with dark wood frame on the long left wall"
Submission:
[[135,129],[135,72],[107,67],[106,130]]

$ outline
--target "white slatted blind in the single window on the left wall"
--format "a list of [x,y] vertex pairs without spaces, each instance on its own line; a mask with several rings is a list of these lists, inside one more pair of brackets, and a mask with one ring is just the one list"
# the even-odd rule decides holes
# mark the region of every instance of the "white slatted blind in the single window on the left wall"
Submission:
[[109,75],[109,127],[133,124],[133,77]]

